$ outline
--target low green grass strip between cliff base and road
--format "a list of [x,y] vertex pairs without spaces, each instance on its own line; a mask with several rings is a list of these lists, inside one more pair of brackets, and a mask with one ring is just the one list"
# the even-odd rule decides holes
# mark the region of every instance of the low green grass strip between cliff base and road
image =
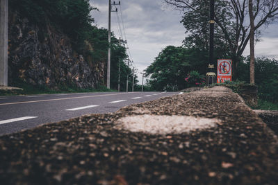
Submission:
[[15,82],[13,85],[14,87],[20,87],[24,89],[23,91],[20,90],[13,90],[13,91],[1,91],[0,96],[15,96],[15,95],[30,95],[30,94],[60,94],[60,93],[80,93],[80,92],[104,92],[104,91],[115,91],[113,89],[107,89],[103,85],[99,85],[97,89],[88,88],[88,89],[81,89],[81,88],[73,88],[73,87],[58,87],[58,89],[49,89],[45,86],[33,86],[27,84],[26,82]]

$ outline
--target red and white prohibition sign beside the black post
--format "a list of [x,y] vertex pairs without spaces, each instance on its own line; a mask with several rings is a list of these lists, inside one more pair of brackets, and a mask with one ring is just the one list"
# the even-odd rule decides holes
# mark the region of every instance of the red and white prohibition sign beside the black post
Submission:
[[231,81],[231,64],[232,62],[230,59],[218,60],[218,83]]

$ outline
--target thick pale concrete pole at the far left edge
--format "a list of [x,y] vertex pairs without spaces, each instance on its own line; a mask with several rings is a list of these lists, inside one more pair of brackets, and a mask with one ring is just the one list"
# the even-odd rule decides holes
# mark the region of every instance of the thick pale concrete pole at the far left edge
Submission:
[[0,86],[8,86],[8,0],[0,5]]

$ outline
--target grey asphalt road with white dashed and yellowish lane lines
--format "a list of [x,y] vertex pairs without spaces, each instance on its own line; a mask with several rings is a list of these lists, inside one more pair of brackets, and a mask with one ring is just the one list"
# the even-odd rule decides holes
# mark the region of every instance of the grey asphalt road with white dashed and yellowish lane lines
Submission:
[[172,96],[177,92],[79,93],[0,96],[0,135],[83,116],[115,112],[134,103]]

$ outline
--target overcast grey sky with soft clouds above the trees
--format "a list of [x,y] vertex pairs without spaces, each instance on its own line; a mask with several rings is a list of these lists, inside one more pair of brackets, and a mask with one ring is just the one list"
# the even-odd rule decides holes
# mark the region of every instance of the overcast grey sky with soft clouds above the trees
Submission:
[[[99,28],[108,28],[108,0],[90,0],[90,3],[99,9],[99,12],[92,12],[95,24]],[[122,0],[121,8],[131,58],[140,71],[154,62],[154,58],[165,46],[181,46],[186,36],[185,28],[180,23],[182,14],[167,8],[163,0]],[[120,8],[118,9],[118,15],[121,17]],[[111,17],[111,30],[116,37],[120,37],[117,13],[112,12]],[[249,52],[248,46],[244,55]],[[277,23],[263,30],[263,37],[261,42],[256,44],[255,53],[257,56],[265,55],[278,60]]]

